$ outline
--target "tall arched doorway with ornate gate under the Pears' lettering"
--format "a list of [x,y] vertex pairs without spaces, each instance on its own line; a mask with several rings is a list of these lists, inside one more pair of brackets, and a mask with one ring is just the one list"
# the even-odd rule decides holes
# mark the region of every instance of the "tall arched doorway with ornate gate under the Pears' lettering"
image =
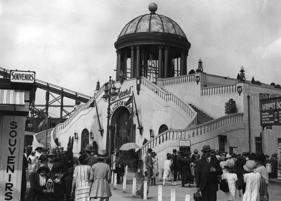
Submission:
[[[119,149],[123,144],[135,142],[136,126],[132,122],[132,115],[127,107],[120,106],[111,118],[111,150]],[[115,127],[115,129],[112,129]]]

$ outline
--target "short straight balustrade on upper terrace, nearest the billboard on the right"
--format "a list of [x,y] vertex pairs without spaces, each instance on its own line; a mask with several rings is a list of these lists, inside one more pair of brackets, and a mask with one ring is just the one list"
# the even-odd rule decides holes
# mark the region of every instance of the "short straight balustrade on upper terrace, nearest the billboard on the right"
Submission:
[[236,93],[236,84],[201,88],[201,96]]

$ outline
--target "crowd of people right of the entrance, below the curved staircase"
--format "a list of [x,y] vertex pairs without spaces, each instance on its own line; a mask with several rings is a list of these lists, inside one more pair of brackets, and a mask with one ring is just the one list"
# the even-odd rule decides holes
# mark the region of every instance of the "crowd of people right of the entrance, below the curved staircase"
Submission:
[[[163,186],[166,185],[165,181],[176,185],[174,181],[178,179],[181,180],[181,187],[188,184],[191,188],[191,184],[195,182],[203,201],[217,200],[219,186],[225,192],[225,200],[236,200],[242,194],[244,201],[269,199],[269,178],[277,178],[277,153],[272,154],[269,159],[267,154],[260,152],[229,154],[215,151],[208,145],[203,146],[201,151],[201,157],[196,149],[192,156],[190,151],[181,152],[176,149],[172,150],[172,154],[167,153],[162,169]],[[148,181],[155,175],[152,174],[153,156],[155,152],[149,148],[145,157]],[[152,180],[150,185],[153,185]]]

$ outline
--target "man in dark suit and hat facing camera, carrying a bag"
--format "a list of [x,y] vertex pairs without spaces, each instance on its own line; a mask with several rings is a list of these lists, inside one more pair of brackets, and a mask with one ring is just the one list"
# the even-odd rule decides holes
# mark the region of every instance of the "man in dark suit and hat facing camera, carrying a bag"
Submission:
[[198,161],[196,169],[197,191],[201,191],[203,201],[216,201],[219,190],[217,176],[222,175],[223,171],[219,160],[211,157],[209,145],[204,145],[202,152],[204,157]]

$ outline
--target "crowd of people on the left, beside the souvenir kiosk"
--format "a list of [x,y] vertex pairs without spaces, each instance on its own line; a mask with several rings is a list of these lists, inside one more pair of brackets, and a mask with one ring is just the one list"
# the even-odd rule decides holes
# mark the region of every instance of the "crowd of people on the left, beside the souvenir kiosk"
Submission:
[[111,170],[106,162],[109,158],[106,150],[96,152],[87,145],[78,157],[79,164],[74,165],[71,147],[48,150],[31,146],[24,150],[23,172],[27,168],[30,190],[27,198],[26,177],[22,176],[21,200],[109,200],[111,190]]

